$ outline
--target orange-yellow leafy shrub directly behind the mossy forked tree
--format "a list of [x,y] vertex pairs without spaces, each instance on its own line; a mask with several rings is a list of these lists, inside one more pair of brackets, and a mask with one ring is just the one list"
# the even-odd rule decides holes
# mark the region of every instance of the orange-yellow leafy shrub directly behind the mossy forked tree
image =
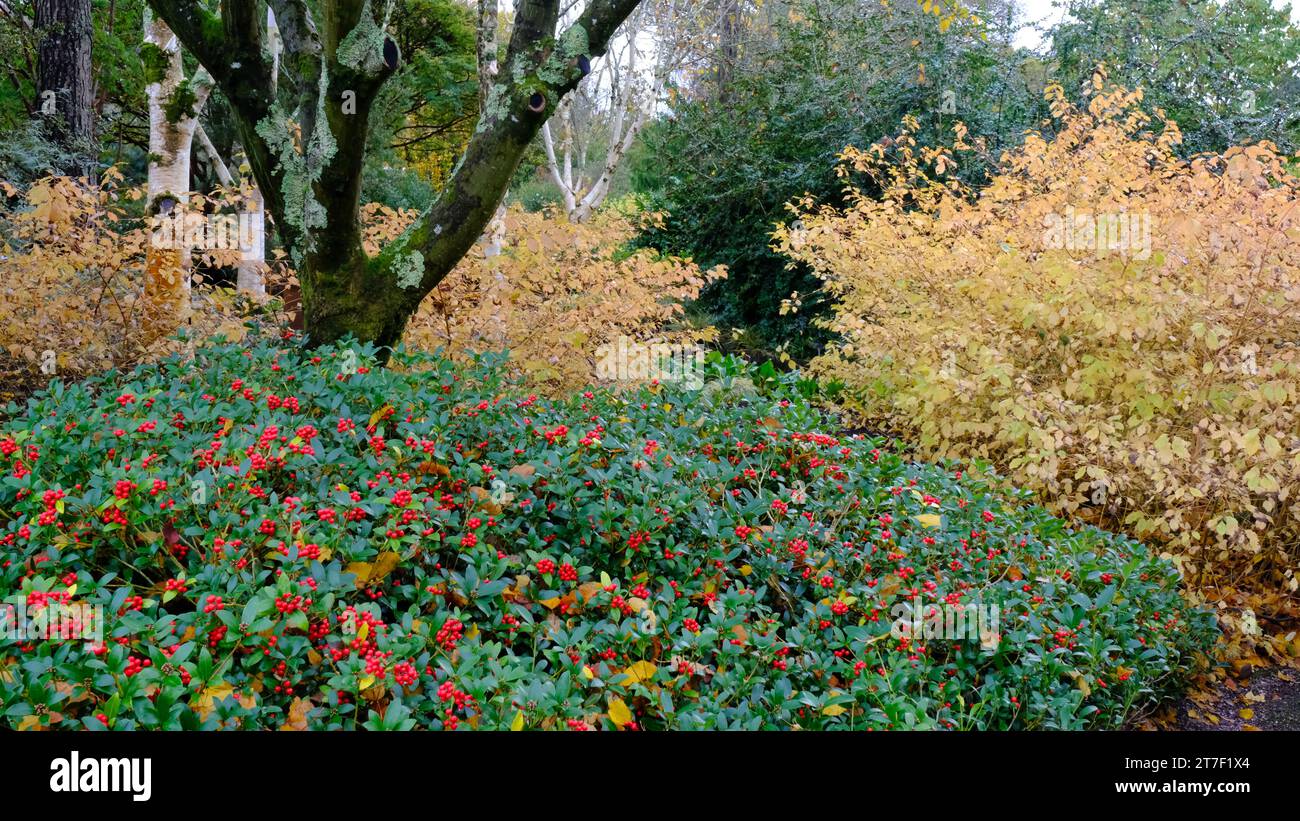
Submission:
[[[369,252],[415,217],[377,204],[364,216]],[[508,349],[529,383],[573,388],[595,382],[601,346],[619,336],[644,344],[715,340],[716,329],[690,325],[684,303],[725,270],[628,252],[641,218],[655,216],[606,208],[577,223],[554,210],[510,209],[500,253],[471,251],[411,320],[406,344],[456,357]]]

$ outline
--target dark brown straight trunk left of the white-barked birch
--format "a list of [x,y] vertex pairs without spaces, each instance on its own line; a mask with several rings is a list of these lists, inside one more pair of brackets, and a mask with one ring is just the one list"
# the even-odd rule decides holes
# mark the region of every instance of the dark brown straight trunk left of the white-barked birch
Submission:
[[69,155],[65,174],[95,175],[94,83],[90,0],[35,0],[40,36],[36,91],[53,139]]

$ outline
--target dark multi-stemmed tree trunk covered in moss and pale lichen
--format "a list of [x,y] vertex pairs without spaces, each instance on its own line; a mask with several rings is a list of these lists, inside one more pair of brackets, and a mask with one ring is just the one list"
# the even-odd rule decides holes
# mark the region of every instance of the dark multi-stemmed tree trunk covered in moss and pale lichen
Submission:
[[[589,0],[558,30],[560,0],[520,0],[499,75],[447,186],[396,242],[361,246],[360,190],[374,97],[400,56],[385,0],[150,0],[230,104],[248,164],[302,283],[316,343],[395,346],[410,316],[473,247],[546,117],[604,55],[640,0]],[[283,42],[277,96],[265,5]],[[320,9],[318,21],[312,8]]]

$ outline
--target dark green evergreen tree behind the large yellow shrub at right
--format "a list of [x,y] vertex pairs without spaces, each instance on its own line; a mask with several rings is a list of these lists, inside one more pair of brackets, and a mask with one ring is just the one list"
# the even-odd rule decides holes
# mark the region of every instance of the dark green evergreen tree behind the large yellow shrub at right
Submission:
[[[927,136],[965,121],[989,155],[1017,144],[1046,113],[1041,74],[1030,70],[1039,61],[1011,45],[1005,8],[987,23],[946,26],[909,3],[737,1],[724,10],[734,25],[675,78],[671,113],[636,152],[633,186],[670,214],[642,242],[728,266],[699,303],[720,327],[745,330],[724,342],[760,356],[784,346],[802,359],[824,339],[810,322],[815,305],[781,316],[780,304],[819,283],[770,247],[774,226],[789,220],[785,203],[803,194],[838,201],[838,152],[897,131],[905,114]],[[961,173],[978,179],[983,168],[966,162]]]

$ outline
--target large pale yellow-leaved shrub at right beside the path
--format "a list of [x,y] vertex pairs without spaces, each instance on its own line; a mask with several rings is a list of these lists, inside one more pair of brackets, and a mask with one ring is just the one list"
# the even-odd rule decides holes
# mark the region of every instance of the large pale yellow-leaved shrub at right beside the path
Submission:
[[[952,148],[846,149],[842,209],[775,244],[836,299],[814,370],[927,457],[988,460],[1058,511],[1157,540],[1204,587],[1294,592],[1300,181],[1269,143],[1178,158],[1093,78],[988,186]],[[868,177],[880,191],[857,187]]]

